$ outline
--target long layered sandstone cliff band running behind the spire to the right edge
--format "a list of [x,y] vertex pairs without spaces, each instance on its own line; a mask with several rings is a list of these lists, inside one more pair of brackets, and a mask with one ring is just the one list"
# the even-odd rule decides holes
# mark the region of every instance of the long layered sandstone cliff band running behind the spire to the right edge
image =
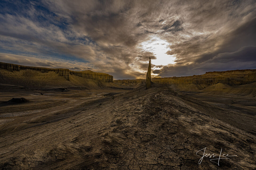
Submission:
[[[131,84],[142,83],[145,79],[134,80],[114,80],[114,83]],[[238,86],[256,82],[256,69],[250,70],[229,70],[229,71],[213,71],[206,72],[202,75],[193,75],[186,77],[165,77],[165,78],[152,78],[151,82],[157,84],[229,84],[230,86]]]

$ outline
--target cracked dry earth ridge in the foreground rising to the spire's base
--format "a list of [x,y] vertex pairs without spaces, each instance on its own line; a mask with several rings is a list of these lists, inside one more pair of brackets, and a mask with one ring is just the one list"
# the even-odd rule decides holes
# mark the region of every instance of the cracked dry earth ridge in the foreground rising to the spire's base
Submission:
[[[76,103],[46,124],[0,126],[0,169],[256,168],[255,116],[154,86]],[[237,156],[198,164],[205,147]]]

